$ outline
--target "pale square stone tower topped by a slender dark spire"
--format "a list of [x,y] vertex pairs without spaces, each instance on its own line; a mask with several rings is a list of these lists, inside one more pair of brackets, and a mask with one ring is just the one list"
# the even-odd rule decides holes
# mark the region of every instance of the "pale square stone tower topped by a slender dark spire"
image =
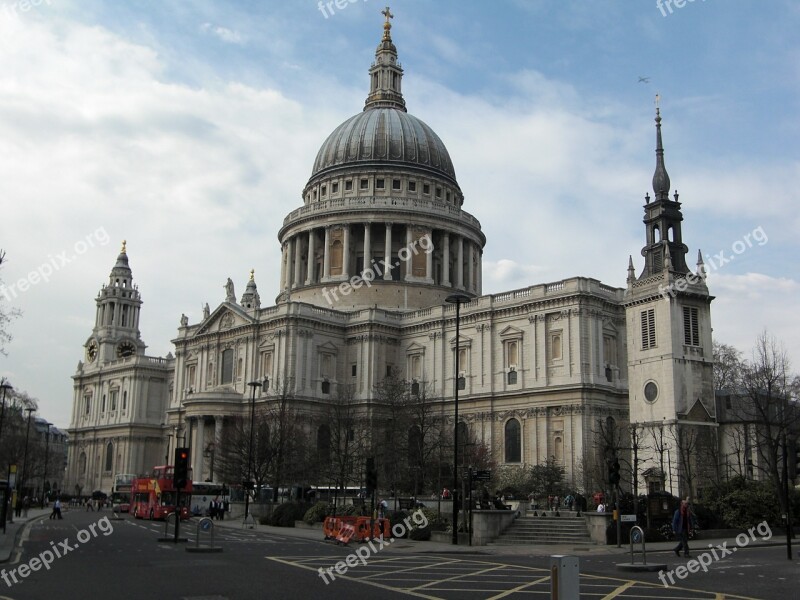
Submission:
[[624,297],[630,423],[639,430],[641,441],[639,481],[660,480],[666,491],[696,495],[703,469],[713,467],[696,461],[701,448],[713,443],[716,426],[713,297],[706,286],[702,254],[698,252],[696,271],[686,266],[683,214],[678,192],[669,195],[658,108],[655,121],[654,197],[645,196],[644,268],[637,277],[629,259]]

